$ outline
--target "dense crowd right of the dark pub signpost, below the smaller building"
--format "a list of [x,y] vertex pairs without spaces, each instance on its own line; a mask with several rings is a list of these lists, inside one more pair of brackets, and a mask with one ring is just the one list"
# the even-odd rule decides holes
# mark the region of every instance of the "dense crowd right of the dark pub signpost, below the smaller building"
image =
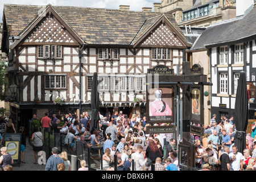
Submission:
[[204,135],[191,135],[195,145],[196,167],[205,171],[255,171],[256,170],[256,123],[252,132],[246,134],[246,148],[238,152],[235,145],[236,125],[234,117],[221,117],[216,121],[213,114]]

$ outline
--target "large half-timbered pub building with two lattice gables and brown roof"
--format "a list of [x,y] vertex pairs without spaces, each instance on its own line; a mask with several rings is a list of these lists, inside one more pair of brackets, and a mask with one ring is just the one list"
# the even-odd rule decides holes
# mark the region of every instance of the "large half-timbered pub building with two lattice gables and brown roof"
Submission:
[[[80,102],[90,110],[94,72],[102,114],[110,107],[130,117],[144,106],[135,107],[134,98],[146,100],[147,69],[163,64],[181,73],[183,50],[191,46],[168,13],[51,5],[3,10],[2,48],[17,96],[10,106],[22,125],[34,113],[77,113]],[[63,105],[53,104],[58,97]]]

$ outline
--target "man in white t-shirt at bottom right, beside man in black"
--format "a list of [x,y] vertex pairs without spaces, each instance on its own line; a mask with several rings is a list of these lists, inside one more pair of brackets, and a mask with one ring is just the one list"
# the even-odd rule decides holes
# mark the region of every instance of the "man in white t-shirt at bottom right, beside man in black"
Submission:
[[230,171],[240,171],[243,169],[243,155],[237,152],[237,146],[233,146],[232,151],[229,153]]

